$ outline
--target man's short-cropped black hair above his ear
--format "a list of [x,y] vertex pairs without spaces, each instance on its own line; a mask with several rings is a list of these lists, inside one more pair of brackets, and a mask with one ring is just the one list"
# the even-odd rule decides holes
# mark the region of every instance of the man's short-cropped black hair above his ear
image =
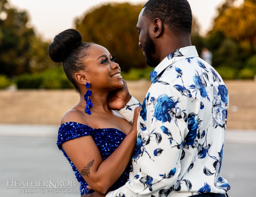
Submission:
[[143,16],[159,18],[175,34],[190,34],[192,12],[187,0],[149,0]]

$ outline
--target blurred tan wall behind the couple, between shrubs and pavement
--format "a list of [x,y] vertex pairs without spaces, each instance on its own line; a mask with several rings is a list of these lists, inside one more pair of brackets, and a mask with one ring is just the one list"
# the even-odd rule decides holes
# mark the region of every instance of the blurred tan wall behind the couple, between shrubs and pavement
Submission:
[[[256,129],[256,82],[226,81],[230,106],[229,129]],[[150,81],[128,81],[128,88],[140,102]],[[59,124],[62,115],[75,105],[79,95],[73,90],[0,91],[0,123]]]

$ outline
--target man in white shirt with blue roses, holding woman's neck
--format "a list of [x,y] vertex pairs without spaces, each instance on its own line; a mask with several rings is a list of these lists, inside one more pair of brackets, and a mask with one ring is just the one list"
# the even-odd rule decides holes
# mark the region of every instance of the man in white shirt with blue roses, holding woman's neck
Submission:
[[[139,15],[139,45],[156,68],[137,122],[129,181],[107,197],[225,196],[230,189],[219,175],[228,91],[191,46],[191,26],[186,0],[149,0]],[[123,107],[119,113],[131,122],[139,104],[129,99],[123,88],[109,106]]]

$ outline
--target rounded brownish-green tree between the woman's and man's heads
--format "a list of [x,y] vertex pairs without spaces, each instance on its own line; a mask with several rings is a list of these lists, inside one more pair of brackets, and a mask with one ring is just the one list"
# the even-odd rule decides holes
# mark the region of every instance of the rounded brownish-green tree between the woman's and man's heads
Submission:
[[145,58],[139,47],[136,30],[142,6],[107,4],[86,13],[76,20],[76,29],[83,41],[95,42],[117,57],[122,71],[145,68]]

